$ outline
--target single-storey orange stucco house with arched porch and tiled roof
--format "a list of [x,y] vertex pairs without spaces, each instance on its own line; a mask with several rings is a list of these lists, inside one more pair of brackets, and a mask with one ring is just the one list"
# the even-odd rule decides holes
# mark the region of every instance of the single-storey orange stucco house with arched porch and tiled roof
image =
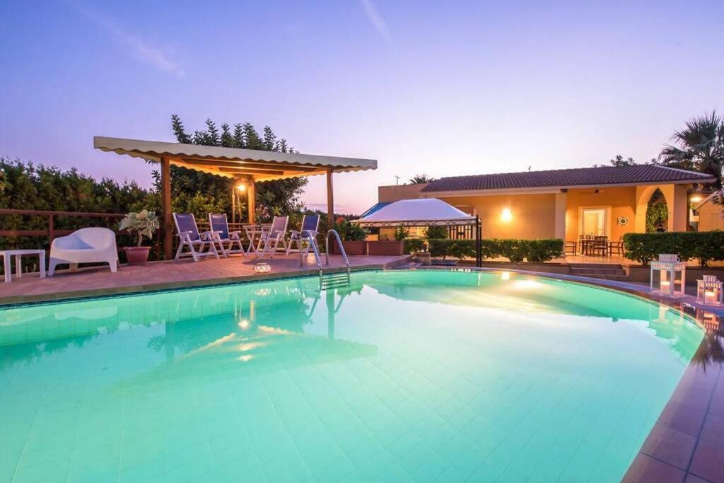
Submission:
[[[440,198],[479,215],[485,238],[562,238],[645,232],[657,190],[668,207],[667,231],[689,230],[689,196],[710,175],[639,164],[443,177],[427,184],[380,186],[371,210],[407,198]],[[389,236],[381,230],[380,237]]]

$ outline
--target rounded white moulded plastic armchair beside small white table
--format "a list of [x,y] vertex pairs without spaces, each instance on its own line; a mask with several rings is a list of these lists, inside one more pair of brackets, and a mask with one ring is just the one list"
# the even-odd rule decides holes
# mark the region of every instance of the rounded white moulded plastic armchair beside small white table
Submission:
[[50,245],[50,266],[48,276],[52,277],[55,267],[104,261],[111,266],[111,272],[118,269],[118,248],[116,234],[108,228],[81,228],[65,237],[58,237]]

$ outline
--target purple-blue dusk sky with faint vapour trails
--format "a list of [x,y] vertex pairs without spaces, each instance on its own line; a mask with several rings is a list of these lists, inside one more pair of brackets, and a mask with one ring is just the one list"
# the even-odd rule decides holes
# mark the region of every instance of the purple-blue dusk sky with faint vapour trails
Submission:
[[[647,161],[724,111],[724,1],[0,1],[0,155],[150,185],[93,135],[174,140],[206,118],[270,125],[376,186]],[[312,178],[303,201],[326,201]]]

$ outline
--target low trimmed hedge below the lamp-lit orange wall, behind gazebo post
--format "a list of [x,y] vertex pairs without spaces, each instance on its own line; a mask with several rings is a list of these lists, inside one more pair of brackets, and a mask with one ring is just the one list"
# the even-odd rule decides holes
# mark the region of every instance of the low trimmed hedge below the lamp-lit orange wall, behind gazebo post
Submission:
[[[475,240],[428,240],[432,256],[456,259],[475,257]],[[563,240],[544,238],[541,240],[518,240],[515,238],[489,238],[481,241],[484,259],[505,258],[512,262],[527,260],[540,264],[563,254]]]

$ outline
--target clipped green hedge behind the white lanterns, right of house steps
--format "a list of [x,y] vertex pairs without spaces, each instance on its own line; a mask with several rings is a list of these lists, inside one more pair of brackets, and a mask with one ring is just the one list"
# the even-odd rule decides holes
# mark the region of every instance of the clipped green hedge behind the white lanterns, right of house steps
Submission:
[[699,259],[701,266],[707,266],[712,260],[724,260],[724,232],[626,233],[623,247],[626,258],[643,265],[660,253],[675,253],[681,260]]

